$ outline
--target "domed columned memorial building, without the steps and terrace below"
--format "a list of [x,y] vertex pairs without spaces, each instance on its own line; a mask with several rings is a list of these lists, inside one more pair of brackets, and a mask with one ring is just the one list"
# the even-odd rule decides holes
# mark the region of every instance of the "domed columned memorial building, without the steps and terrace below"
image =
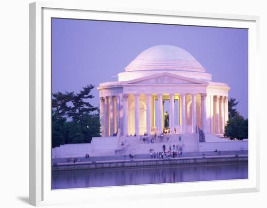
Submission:
[[212,75],[186,50],[170,45],[148,48],[117,76],[118,81],[98,87],[102,137],[118,130],[120,135],[166,130],[194,134],[197,127],[223,134],[230,87],[212,81]]

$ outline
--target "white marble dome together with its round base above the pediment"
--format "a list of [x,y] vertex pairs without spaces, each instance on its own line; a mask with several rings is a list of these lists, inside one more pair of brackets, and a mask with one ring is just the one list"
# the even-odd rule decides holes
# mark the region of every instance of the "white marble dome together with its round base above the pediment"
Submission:
[[164,72],[196,80],[212,80],[212,75],[206,73],[206,69],[189,52],[170,45],[144,50],[117,76],[118,81],[129,81]]

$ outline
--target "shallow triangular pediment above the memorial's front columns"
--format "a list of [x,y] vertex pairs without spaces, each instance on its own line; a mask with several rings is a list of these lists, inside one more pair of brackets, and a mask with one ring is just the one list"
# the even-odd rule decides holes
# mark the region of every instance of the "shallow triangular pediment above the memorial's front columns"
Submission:
[[207,84],[204,81],[195,80],[192,78],[186,78],[179,75],[174,75],[170,73],[161,73],[157,75],[152,75],[148,77],[138,78],[135,80],[126,81],[124,84],[173,84],[173,85],[186,85],[186,84]]

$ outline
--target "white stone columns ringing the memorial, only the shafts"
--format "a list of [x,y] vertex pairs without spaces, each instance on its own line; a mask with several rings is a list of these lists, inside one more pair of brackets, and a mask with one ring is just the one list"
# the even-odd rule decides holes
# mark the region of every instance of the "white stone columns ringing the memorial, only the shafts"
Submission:
[[[117,128],[121,129],[121,133],[126,135],[128,133],[128,94],[120,94],[119,96],[106,96],[100,97],[100,121],[101,121],[101,132],[102,136],[109,136],[115,133],[115,116],[117,121]],[[163,95],[158,94],[158,129],[159,131],[163,130]],[[169,94],[170,96],[170,130],[171,133],[174,133],[175,128],[175,111],[174,111],[174,94]],[[186,94],[181,94],[181,117],[182,117],[182,133],[186,132],[186,122],[185,122],[185,96]],[[192,96],[192,133],[196,133],[197,131],[197,105],[196,105],[196,94],[191,94]],[[206,132],[206,96],[207,94],[201,94],[201,117],[202,117],[202,130]],[[116,97],[116,112],[114,109],[114,102]],[[134,94],[134,130],[138,135],[139,132],[139,97],[140,94]],[[226,120],[228,120],[228,98],[225,96],[214,96],[215,100],[215,133],[223,133],[224,125]],[[220,104],[219,104],[220,102]],[[146,94],[146,107],[147,107],[147,132],[151,133],[151,94]],[[219,109],[220,106],[220,109]],[[219,116],[219,112],[221,112],[221,116]],[[220,119],[220,121],[219,121]],[[219,127],[220,124],[220,127]],[[220,129],[220,130],[219,130]]]

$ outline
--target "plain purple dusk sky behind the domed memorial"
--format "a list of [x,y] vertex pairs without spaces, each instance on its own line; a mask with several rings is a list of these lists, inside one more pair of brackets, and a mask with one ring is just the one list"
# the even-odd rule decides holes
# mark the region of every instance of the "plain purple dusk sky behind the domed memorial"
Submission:
[[[180,25],[52,19],[52,92],[117,81],[143,50],[156,45],[184,48],[231,87],[229,97],[248,117],[248,30]],[[99,105],[97,89],[91,104]]]

